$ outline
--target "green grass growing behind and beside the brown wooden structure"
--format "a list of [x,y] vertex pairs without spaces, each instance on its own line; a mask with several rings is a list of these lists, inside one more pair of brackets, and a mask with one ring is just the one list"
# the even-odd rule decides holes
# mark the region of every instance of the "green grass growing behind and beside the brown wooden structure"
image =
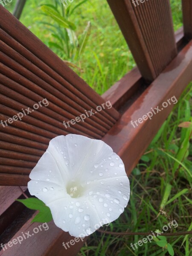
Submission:
[[[78,1],[77,1],[78,2]],[[52,22],[41,14],[40,4],[52,3],[51,0],[28,0],[21,22],[25,24],[45,44],[54,40],[51,32],[40,21]],[[15,2],[7,5],[13,9]],[[73,3],[71,3],[73,4]],[[182,26],[181,1],[171,0],[174,29]],[[91,21],[91,35],[81,59],[76,61],[79,75],[102,94],[135,66],[134,59],[119,30],[106,1],[89,0],[70,17],[80,35],[88,21]],[[64,58],[64,53],[53,49]],[[71,61],[70,59],[66,59]],[[170,218],[177,221],[178,227],[169,232],[192,229],[191,225],[191,188],[192,144],[189,144],[191,128],[180,128],[182,122],[191,120],[192,84],[186,88],[166,122],[142,157],[137,168],[130,176],[131,198],[125,212],[107,230],[155,231],[162,230],[169,218],[159,212],[160,207]],[[131,243],[143,236],[113,236],[94,233],[90,236],[79,256],[163,256],[169,255],[166,246],[158,242],[144,244],[138,250]],[[189,256],[192,253],[191,237],[168,237],[175,255]]]

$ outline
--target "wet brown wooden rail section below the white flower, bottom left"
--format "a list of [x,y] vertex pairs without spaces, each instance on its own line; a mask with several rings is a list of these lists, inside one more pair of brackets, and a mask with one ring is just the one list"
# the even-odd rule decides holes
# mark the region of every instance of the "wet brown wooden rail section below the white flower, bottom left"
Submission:
[[[15,234],[15,236],[13,236],[12,239],[20,236],[21,232],[29,232],[29,234],[32,234],[34,233],[33,230],[35,227],[39,229],[38,226],[41,223],[30,223],[35,217],[35,214],[32,216],[32,218],[29,219],[29,221],[26,222],[26,224],[23,225],[23,227],[21,227],[21,229]],[[39,232],[34,234],[34,236],[31,236],[26,240],[23,239],[22,244],[18,243],[13,247],[7,247],[7,250],[5,251],[1,250],[0,255],[21,256],[26,255],[27,250],[27,254],[29,256],[75,256],[83,246],[84,242],[87,240],[87,238],[85,238],[84,241],[79,239],[79,241],[76,242],[73,246],[69,244],[70,248],[66,250],[62,243],[66,243],[74,239],[74,237],[56,227],[53,221],[48,222],[47,225],[48,230],[44,230],[44,228],[41,227],[41,231],[39,230]]]

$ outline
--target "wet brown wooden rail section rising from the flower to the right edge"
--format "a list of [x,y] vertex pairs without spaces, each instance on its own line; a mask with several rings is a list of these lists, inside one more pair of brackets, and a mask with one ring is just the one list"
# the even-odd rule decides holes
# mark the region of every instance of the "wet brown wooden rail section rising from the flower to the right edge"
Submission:
[[[174,104],[161,110],[161,105],[172,96],[179,99],[186,85],[192,81],[192,40],[155,79],[141,96],[128,108],[118,122],[102,138],[113,148],[125,163],[129,175],[140,157],[163,124]],[[170,101],[171,102],[171,101]],[[161,112],[153,115],[138,126],[131,125],[142,118],[151,108],[160,107]],[[138,124],[138,122],[137,122]]]

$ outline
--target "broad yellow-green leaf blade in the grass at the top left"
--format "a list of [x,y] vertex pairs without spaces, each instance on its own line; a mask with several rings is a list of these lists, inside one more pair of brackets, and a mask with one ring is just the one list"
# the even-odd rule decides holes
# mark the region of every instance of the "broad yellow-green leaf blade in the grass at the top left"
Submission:
[[76,26],[75,24],[71,23],[70,21],[66,20],[64,17],[62,17],[60,14],[55,12],[51,7],[49,6],[41,6],[41,10],[52,17],[53,20],[55,20],[60,26],[67,28],[67,29],[72,29],[75,30]]

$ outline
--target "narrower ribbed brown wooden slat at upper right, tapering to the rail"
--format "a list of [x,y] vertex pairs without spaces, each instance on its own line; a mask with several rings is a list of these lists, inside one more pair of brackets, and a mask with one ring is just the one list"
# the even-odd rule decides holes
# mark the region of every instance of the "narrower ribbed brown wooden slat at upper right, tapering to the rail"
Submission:
[[177,55],[169,0],[108,0],[141,75],[153,81]]

